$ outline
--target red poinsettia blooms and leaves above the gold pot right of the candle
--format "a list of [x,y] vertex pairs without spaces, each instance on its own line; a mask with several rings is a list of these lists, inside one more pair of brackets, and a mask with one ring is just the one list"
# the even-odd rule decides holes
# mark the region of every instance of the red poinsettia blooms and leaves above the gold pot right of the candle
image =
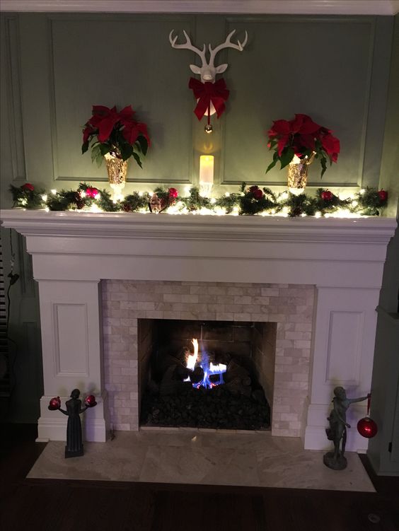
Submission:
[[316,124],[307,115],[295,115],[295,118],[289,121],[275,120],[267,136],[267,147],[274,151],[274,155],[266,173],[274,168],[277,161],[280,161],[281,167],[284,168],[294,157],[301,161],[318,158],[322,168],[320,177],[323,177],[327,161],[330,161],[330,165],[337,162],[340,153],[340,141],[332,136],[330,129]]

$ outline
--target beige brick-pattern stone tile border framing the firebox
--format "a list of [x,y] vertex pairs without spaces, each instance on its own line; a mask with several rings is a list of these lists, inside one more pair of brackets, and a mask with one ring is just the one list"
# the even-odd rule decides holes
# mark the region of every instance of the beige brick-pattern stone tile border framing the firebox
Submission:
[[115,430],[139,428],[138,319],[276,322],[272,435],[301,436],[309,388],[314,286],[102,282],[105,388]]

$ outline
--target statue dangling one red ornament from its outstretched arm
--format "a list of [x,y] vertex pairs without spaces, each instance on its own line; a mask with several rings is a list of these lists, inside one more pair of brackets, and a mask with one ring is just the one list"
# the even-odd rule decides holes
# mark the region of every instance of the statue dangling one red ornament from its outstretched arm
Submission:
[[[371,395],[360,398],[347,398],[347,393],[343,387],[335,387],[334,389],[334,398],[332,399],[333,409],[330,412],[327,420],[330,422],[330,427],[325,429],[328,440],[334,442],[334,451],[328,452],[323,455],[324,464],[334,470],[343,470],[347,467],[347,459],[344,456],[345,445],[347,442],[347,428],[350,428],[350,425],[347,424],[347,409],[350,404],[354,402],[363,402],[363,400],[369,400],[368,410],[370,404]],[[363,421],[365,419],[362,419]],[[371,419],[369,419],[371,421]],[[359,421],[359,424],[362,421]],[[375,424],[374,421],[371,423]],[[364,435],[360,431],[358,424],[358,430],[361,435]],[[376,434],[376,430],[374,435]],[[367,436],[367,435],[366,435]],[[341,443],[342,441],[342,443]]]

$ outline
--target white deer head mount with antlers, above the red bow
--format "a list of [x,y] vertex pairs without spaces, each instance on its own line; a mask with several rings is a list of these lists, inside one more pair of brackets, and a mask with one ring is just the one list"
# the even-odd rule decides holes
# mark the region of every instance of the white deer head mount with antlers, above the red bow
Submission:
[[214,49],[212,49],[211,45],[209,45],[209,62],[208,62],[207,57],[205,56],[206,45],[204,45],[202,49],[199,49],[193,46],[191,44],[190,37],[187,35],[185,30],[183,30],[183,33],[185,35],[186,42],[184,44],[178,45],[176,44],[176,41],[178,40],[178,35],[176,35],[175,37],[172,37],[173,31],[174,30],[172,30],[169,33],[169,42],[173,48],[190,49],[192,50],[192,52],[195,52],[201,58],[202,65],[197,66],[196,64],[190,64],[190,69],[194,74],[199,74],[199,76],[201,76],[202,83],[206,83],[207,81],[214,83],[216,74],[223,74],[223,72],[226,70],[228,66],[228,64],[226,63],[219,64],[218,66],[214,66],[215,57],[218,52],[220,52],[222,49],[225,49],[225,48],[238,49],[238,52],[242,52],[248,40],[248,33],[245,31],[244,42],[241,44],[241,42],[237,40],[237,44],[234,44],[233,42],[231,42],[231,37],[233,37],[234,33],[236,33],[236,30],[231,31],[231,33],[227,35],[226,40],[222,42],[220,45],[216,46]]

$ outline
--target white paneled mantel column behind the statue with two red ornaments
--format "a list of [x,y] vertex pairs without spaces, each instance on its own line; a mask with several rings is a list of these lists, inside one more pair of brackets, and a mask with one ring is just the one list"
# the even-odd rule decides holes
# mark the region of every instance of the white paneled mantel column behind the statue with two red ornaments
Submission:
[[40,400],[37,440],[65,440],[67,416],[48,409],[52,397],[64,401],[73,389],[96,395],[98,405],[83,415],[83,438],[103,442],[108,432],[103,385],[103,346],[98,281],[40,280],[45,394]]

